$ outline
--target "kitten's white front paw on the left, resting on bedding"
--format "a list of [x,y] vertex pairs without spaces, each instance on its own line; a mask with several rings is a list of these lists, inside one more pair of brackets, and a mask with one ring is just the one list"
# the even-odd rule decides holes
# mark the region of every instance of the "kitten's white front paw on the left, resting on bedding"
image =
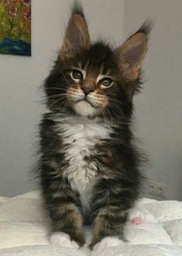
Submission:
[[79,244],[77,244],[75,241],[71,241],[69,234],[64,232],[52,233],[50,242],[53,245],[59,245],[61,247],[79,249]]

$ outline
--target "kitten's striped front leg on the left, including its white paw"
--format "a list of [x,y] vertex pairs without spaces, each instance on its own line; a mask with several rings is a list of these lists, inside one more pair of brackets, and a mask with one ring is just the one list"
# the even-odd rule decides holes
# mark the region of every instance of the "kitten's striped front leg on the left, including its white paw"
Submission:
[[85,238],[79,196],[61,176],[44,180],[49,180],[43,183],[43,194],[52,224],[50,241],[62,247],[82,246]]

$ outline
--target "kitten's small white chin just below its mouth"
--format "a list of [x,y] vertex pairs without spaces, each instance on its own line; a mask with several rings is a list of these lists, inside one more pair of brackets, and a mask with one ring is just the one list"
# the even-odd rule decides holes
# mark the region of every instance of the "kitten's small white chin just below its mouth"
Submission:
[[87,101],[79,101],[73,105],[73,108],[77,114],[83,116],[93,116],[97,112],[96,108],[93,108],[93,106]]

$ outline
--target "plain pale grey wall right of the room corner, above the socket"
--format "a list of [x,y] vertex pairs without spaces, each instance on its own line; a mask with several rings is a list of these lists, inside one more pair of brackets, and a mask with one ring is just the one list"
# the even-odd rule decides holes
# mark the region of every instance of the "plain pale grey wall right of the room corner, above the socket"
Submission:
[[144,65],[148,81],[136,97],[138,133],[151,159],[149,179],[167,184],[167,199],[182,200],[182,1],[125,0],[124,34],[154,19]]

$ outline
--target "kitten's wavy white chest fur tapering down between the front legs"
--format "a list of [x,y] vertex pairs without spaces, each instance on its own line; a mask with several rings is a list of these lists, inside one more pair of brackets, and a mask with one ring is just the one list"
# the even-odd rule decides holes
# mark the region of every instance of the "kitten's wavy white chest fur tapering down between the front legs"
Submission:
[[112,128],[110,124],[75,117],[62,118],[59,131],[64,145],[63,152],[69,162],[63,175],[69,179],[72,189],[79,192],[82,204],[86,207],[97,177],[96,164],[86,161],[86,157],[99,153],[95,145],[100,139],[110,138]]

